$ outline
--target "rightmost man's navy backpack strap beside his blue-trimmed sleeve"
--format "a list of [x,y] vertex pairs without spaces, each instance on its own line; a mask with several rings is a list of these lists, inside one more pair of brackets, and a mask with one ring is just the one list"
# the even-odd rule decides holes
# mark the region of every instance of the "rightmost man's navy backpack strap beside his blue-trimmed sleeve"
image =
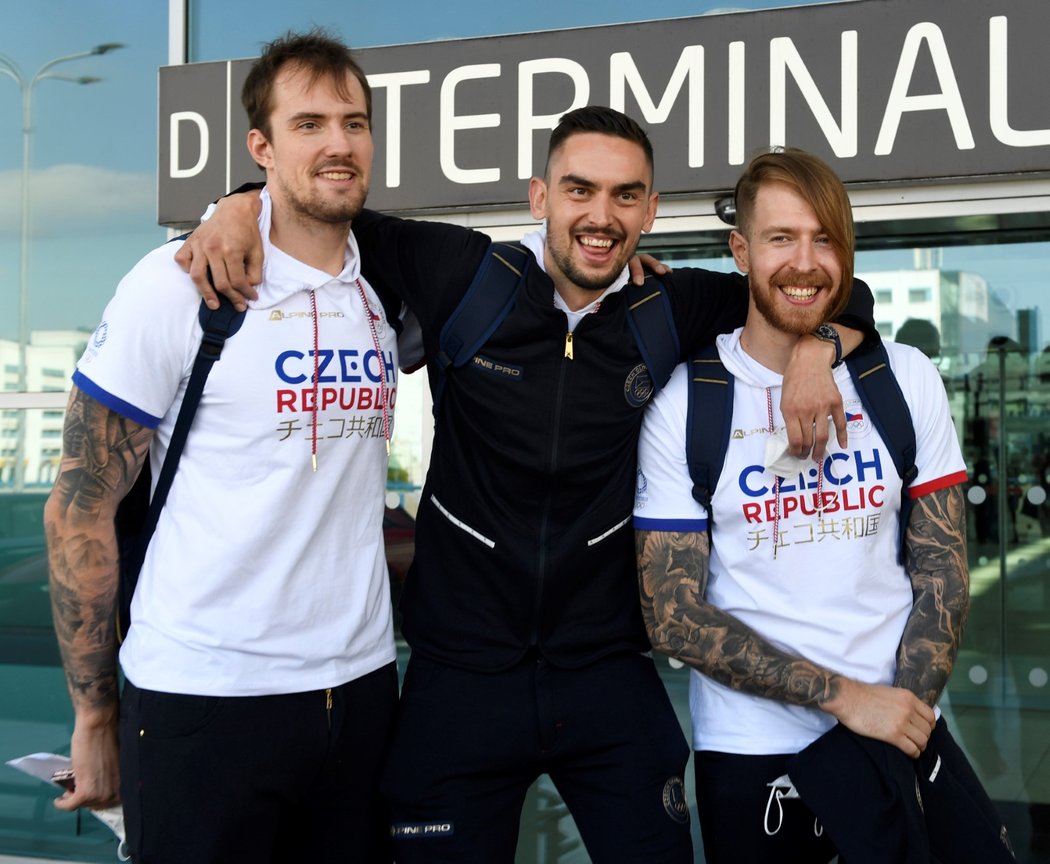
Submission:
[[714,522],[711,497],[726,464],[733,425],[733,376],[713,342],[689,359],[689,409],[686,417],[686,459],[693,480],[693,498]]

